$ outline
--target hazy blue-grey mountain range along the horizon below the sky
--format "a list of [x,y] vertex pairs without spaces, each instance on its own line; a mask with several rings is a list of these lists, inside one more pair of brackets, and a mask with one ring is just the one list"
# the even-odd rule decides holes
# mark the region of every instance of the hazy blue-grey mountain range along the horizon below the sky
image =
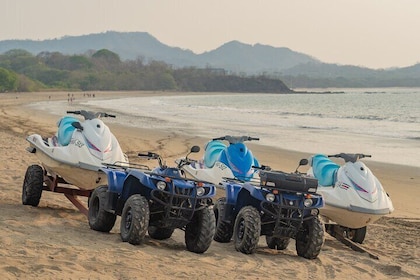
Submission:
[[285,47],[249,45],[238,41],[195,54],[191,50],[165,45],[147,32],[108,31],[43,41],[0,41],[0,54],[11,49],[24,49],[34,55],[41,52],[86,54],[108,49],[122,60],[163,61],[176,68],[221,68],[240,75],[264,74],[300,87],[420,86],[420,64],[404,68],[369,69],[323,63]]

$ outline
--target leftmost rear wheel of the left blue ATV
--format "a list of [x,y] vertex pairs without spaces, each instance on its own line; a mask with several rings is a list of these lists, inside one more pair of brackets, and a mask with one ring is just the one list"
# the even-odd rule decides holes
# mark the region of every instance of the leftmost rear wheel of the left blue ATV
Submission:
[[93,230],[109,232],[117,216],[105,210],[107,186],[97,187],[89,198],[89,226]]

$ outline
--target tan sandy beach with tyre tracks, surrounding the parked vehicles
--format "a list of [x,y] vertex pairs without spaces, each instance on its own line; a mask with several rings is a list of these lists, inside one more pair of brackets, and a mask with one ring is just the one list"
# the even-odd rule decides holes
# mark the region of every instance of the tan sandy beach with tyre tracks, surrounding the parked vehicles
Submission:
[[[96,93],[95,98],[116,94]],[[146,94],[168,93],[121,93]],[[25,150],[25,138],[32,133],[52,135],[58,120],[24,105],[50,98],[67,100],[67,92],[0,94],[2,279],[420,279],[420,168],[415,167],[369,162],[395,207],[394,213],[368,226],[363,246],[379,260],[351,250],[328,234],[315,260],[298,257],[293,241],[284,251],[268,249],[265,238],[253,255],[235,251],[232,243],[215,241],[204,254],[194,254],[186,250],[181,230],[169,240],[146,236],[144,244],[133,246],[121,241],[119,218],[111,233],[93,231],[86,216],[62,194],[44,191],[38,207],[22,205],[25,171],[39,164]],[[83,109],[77,107],[77,101],[74,109]],[[192,145],[202,146],[208,140],[176,131],[115,124],[110,128],[130,161],[137,160],[138,152],[150,150],[159,152],[170,165]],[[249,146],[260,162],[284,171],[295,170],[299,160],[308,157],[253,143]],[[222,195],[219,190],[218,196]]]

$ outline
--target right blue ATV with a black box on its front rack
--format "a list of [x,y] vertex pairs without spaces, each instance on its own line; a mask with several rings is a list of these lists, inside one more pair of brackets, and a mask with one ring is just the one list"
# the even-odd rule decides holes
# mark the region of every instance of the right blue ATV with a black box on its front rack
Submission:
[[[305,164],[302,159],[299,166]],[[226,197],[213,208],[214,240],[227,243],[233,236],[237,251],[252,254],[262,235],[268,247],[277,250],[286,249],[293,238],[299,256],[315,259],[324,243],[324,226],[318,217],[324,201],[316,194],[318,181],[297,169],[294,173],[271,171],[268,166],[259,169],[257,182],[223,182]]]

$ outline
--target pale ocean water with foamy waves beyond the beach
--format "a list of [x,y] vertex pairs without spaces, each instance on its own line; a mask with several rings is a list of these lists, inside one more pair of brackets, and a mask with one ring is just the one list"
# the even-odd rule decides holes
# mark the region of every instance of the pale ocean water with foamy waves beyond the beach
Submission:
[[[112,122],[133,127],[209,139],[247,135],[270,147],[365,153],[374,161],[420,167],[420,88],[329,91],[86,99],[72,109],[115,113]],[[54,108],[58,115],[66,110]]]

